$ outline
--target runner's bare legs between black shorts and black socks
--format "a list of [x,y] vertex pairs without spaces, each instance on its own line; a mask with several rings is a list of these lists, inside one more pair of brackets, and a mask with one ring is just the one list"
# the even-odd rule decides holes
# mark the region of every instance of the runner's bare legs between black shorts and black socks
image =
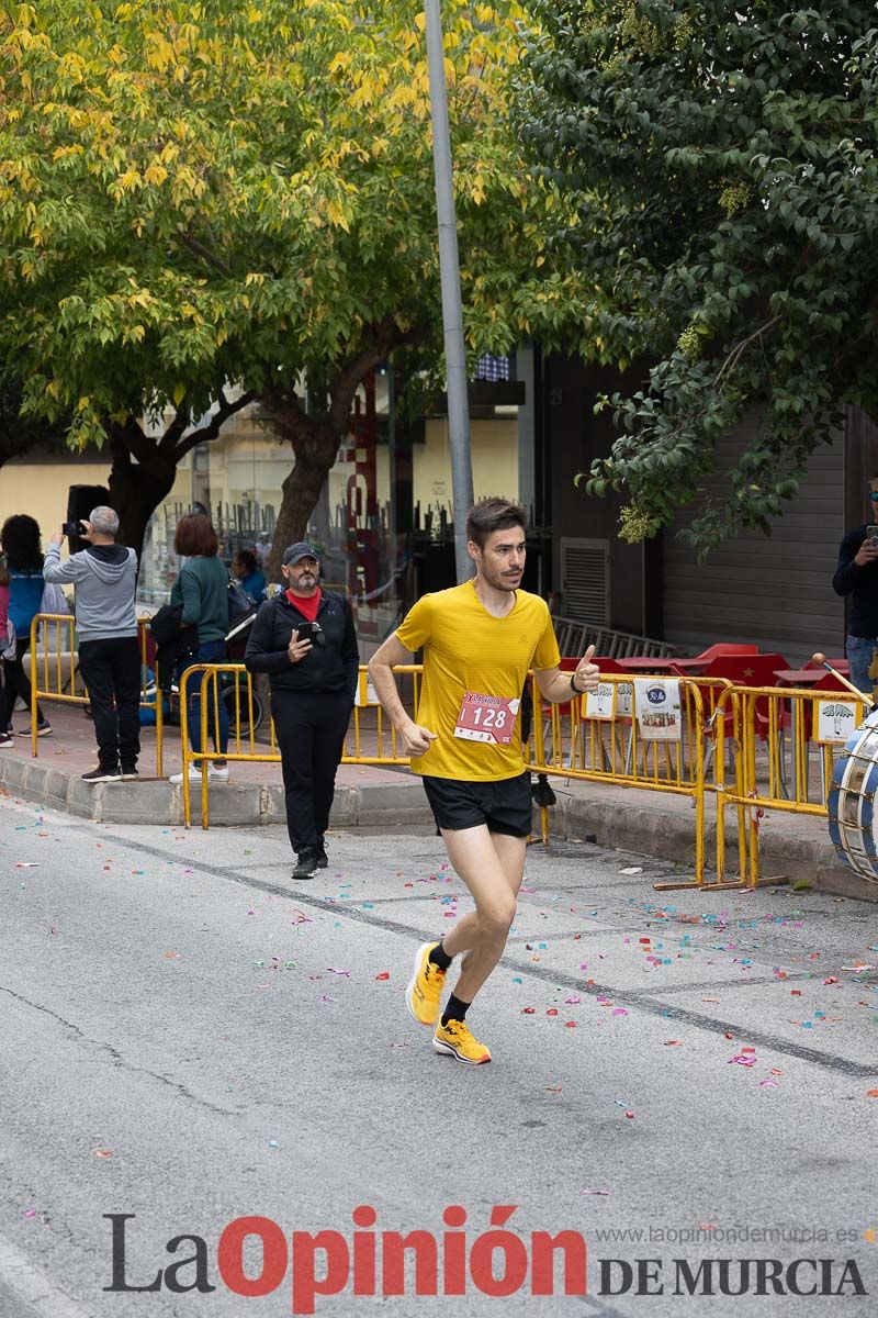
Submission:
[[475,900],[475,911],[442,938],[449,957],[465,953],[454,995],[473,1002],[503,956],[524,874],[527,838],[490,833],[486,824],[442,829],[449,861]]

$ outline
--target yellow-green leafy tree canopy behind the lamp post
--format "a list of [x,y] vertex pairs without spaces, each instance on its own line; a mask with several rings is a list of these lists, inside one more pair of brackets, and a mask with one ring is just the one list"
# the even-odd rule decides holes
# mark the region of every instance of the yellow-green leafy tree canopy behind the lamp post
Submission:
[[[525,14],[449,0],[444,22],[466,331],[508,351],[577,297],[507,124]],[[417,0],[0,11],[0,333],[25,411],[112,445],[129,543],[255,398],[295,455],[276,555],[363,377],[441,377],[423,28]]]

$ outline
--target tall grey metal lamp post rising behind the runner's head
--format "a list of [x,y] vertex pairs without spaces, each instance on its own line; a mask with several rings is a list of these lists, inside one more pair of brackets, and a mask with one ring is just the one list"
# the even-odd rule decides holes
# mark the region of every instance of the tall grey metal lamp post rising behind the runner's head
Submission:
[[442,326],[445,331],[445,370],[448,387],[448,438],[452,451],[452,513],[454,517],[454,565],[458,583],[473,576],[474,565],[466,551],[466,514],[473,507],[473,455],[470,414],[466,397],[466,349],[461,306],[461,262],[457,250],[457,217],[452,183],[452,137],[448,123],[445,51],[440,0],[424,0],[426,20],[426,61],[430,75],[433,119],[433,173],[438,215],[440,277],[442,282]]

